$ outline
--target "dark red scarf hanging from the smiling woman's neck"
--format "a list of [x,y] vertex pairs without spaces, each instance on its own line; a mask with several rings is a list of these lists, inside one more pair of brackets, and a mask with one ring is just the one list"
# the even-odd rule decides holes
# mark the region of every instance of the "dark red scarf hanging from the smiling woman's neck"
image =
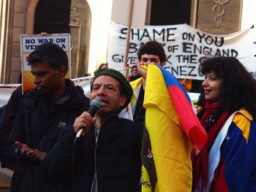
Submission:
[[[203,113],[202,118],[200,119],[200,123],[203,128],[206,129],[208,125],[208,118],[210,115],[213,115],[217,112],[221,107],[221,104],[211,104],[206,101],[205,104],[205,112]],[[197,155],[192,154],[192,166],[193,166],[193,187],[192,191],[195,191],[195,188],[198,187],[198,182],[202,180],[202,187],[206,188],[208,182],[208,153],[211,150],[211,146],[214,144],[214,141],[219,134],[222,126],[224,126],[227,118],[230,117],[230,112],[222,112],[222,114],[217,119],[217,122],[211,127],[208,132],[208,141],[206,145],[204,145],[203,149],[200,150],[200,153]]]

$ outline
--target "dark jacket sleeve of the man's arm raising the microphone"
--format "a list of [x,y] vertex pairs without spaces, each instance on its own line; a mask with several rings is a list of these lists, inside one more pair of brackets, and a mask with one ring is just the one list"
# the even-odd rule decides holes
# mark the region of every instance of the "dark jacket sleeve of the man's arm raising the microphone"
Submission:
[[61,130],[58,141],[42,161],[41,172],[46,182],[53,185],[65,180],[71,182],[74,139],[73,126]]

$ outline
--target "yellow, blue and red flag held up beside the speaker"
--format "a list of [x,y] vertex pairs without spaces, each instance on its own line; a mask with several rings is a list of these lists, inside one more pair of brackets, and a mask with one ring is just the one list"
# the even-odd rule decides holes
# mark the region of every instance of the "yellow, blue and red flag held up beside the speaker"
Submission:
[[172,74],[149,65],[146,79],[143,107],[157,172],[155,191],[192,191],[192,143],[203,147],[206,133],[189,96]]

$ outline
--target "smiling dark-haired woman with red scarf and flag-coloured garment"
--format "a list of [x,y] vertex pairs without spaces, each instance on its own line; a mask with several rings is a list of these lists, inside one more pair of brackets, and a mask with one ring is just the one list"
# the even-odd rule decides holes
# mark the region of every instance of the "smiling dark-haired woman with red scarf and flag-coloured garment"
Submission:
[[256,81],[236,58],[209,58],[197,113],[208,133],[192,154],[193,191],[256,191]]

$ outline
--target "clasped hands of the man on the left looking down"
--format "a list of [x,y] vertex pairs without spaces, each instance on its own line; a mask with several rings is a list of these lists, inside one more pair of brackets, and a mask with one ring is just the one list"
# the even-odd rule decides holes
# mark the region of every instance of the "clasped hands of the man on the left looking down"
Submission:
[[26,145],[25,143],[21,143],[16,141],[15,145],[20,147],[20,154],[26,158],[29,158],[32,161],[43,161],[45,156],[47,155],[46,152],[41,152],[37,149],[33,149]]

